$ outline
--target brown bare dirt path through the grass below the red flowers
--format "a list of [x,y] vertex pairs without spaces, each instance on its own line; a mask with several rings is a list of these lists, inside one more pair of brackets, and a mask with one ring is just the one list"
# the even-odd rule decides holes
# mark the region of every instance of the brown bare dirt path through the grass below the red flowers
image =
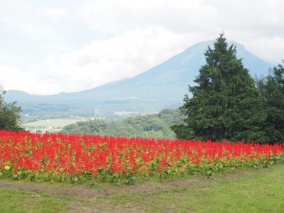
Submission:
[[[204,185],[214,180],[182,180],[175,182],[155,182],[143,183],[137,185],[120,185],[104,188],[91,188],[88,185],[52,185],[35,183],[35,182],[17,182],[11,180],[0,180],[0,188],[12,188],[17,190],[27,190],[37,192],[39,194],[49,195],[69,195],[80,197],[84,200],[96,200],[102,198],[108,200],[108,197],[117,193],[146,193],[159,189],[179,188],[179,187],[192,187],[194,185]],[[139,204],[126,203],[113,206],[111,204],[92,204],[82,203],[78,201],[66,202],[67,212],[145,212],[145,207]]]

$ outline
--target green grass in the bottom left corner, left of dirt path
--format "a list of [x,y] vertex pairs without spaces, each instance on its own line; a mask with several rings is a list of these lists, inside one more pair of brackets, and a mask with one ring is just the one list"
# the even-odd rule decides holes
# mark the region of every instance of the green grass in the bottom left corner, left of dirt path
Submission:
[[[82,198],[75,195],[49,194],[35,191],[33,186],[54,187],[60,193],[71,184],[50,182],[25,182],[23,180],[0,180],[15,185],[28,184],[30,190],[18,190],[13,187],[0,188],[0,212],[88,212],[98,207],[95,198]],[[104,207],[105,208],[105,207]]]

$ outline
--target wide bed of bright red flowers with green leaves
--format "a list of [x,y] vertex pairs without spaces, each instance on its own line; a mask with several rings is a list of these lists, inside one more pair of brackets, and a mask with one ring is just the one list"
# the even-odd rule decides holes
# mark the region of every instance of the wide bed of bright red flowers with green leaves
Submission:
[[[34,181],[160,180],[284,160],[283,145],[0,131],[1,176]],[[8,165],[8,167],[7,167]]]

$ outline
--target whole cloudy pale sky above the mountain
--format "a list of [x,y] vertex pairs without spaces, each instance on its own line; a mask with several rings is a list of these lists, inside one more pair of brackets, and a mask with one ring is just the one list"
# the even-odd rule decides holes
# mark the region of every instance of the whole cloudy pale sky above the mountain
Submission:
[[31,94],[91,89],[223,32],[276,65],[283,11],[283,0],[0,0],[0,84]]

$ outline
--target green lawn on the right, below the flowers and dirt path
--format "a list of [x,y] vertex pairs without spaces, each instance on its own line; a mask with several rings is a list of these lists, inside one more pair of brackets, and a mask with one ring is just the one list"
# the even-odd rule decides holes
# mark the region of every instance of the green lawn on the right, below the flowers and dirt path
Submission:
[[99,202],[122,207],[136,204],[146,212],[284,212],[284,165],[240,173],[244,177],[146,193],[117,193]]

